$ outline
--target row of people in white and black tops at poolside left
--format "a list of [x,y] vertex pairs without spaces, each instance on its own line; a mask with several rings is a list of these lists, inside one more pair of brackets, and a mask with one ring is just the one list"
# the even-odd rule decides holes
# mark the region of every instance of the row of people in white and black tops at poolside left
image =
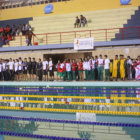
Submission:
[[43,61],[39,59],[29,57],[13,60],[0,59],[0,80],[2,81],[42,81],[48,80],[48,71],[50,74],[50,80],[53,80],[53,62],[52,58],[47,61],[45,58]]

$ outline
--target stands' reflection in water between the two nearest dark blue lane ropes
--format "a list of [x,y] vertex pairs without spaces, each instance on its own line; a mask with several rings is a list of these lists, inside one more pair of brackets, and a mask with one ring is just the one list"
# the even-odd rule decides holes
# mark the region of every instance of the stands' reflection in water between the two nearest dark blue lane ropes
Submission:
[[[42,136],[72,137],[91,140],[101,140],[104,137],[108,140],[112,140],[111,138],[113,138],[113,140],[118,140],[118,137],[124,140],[132,140],[130,136],[135,137],[134,140],[139,140],[138,138],[140,137],[140,127],[131,128],[119,126],[90,125],[81,123],[58,123],[56,121],[42,122],[1,119],[0,131],[13,132],[17,134],[22,133]],[[14,137],[5,140],[16,140],[12,138]]]

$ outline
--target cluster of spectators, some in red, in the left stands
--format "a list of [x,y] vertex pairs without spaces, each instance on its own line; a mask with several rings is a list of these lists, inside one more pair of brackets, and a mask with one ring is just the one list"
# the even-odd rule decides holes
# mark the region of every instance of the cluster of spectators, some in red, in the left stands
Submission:
[[5,27],[0,27],[0,41],[1,45],[9,45],[9,41],[14,40],[15,36],[25,35],[27,36],[32,32],[32,27],[30,24],[19,24],[16,25],[6,25]]

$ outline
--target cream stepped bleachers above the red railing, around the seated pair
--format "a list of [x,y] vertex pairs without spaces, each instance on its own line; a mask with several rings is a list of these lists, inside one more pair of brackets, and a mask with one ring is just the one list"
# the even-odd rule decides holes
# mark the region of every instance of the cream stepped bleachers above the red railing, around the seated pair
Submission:
[[135,13],[135,10],[138,10],[138,7],[83,12],[82,14],[88,21],[88,27],[86,28],[73,28],[75,17],[81,13],[35,17],[30,24],[34,27],[34,33],[36,34],[87,29],[121,28],[123,24],[126,24],[127,20],[131,18],[131,15]]

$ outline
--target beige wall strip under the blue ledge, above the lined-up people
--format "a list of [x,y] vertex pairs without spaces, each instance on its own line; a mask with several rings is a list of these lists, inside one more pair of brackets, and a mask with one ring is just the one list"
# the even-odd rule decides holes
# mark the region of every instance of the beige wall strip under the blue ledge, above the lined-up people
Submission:
[[95,55],[108,55],[109,59],[113,59],[114,56],[120,55],[120,54],[124,54],[125,57],[127,57],[128,55],[131,56],[131,58],[136,58],[138,55],[140,55],[140,45],[138,46],[121,46],[121,47],[107,47],[107,48],[98,48],[95,49],[94,51],[74,51],[74,50],[42,50],[42,51],[25,51],[25,52],[2,52],[0,53],[0,58],[3,59],[8,59],[8,58],[28,58],[28,57],[35,57],[36,60],[38,60],[39,58],[43,59],[43,56],[47,54],[64,54],[65,58],[68,59],[76,59],[76,58],[83,58],[86,55],[91,55],[95,56]]

